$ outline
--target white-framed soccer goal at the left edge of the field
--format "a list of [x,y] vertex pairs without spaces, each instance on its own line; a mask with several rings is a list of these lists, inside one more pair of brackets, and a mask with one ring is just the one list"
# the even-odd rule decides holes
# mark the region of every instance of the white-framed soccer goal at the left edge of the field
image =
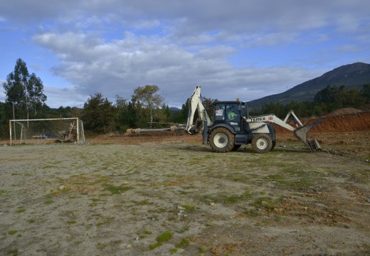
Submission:
[[83,122],[77,117],[9,120],[10,144],[85,143]]

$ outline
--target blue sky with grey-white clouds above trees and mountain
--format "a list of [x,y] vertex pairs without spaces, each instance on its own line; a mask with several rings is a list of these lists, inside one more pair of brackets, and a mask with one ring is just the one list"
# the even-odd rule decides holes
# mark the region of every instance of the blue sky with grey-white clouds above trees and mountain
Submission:
[[[21,58],[49,107],[97,92],[131,100],[157,85],[179,107],[256,100],[370,63],[368,0],[12,0],[0,2],[0,82]],[[4,102],[4,87],[0,101]]]

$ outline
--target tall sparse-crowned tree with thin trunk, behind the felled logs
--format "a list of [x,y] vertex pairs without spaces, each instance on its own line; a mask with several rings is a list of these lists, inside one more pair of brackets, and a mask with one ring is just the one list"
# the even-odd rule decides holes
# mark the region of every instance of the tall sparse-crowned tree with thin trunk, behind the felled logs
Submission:
[[159,87],[157,85],[145,85],[144,87],[137,87],[132,95],[132,103],[136,103],[139,107],[149,111],[150,127],[152,127],[154,111],[158,110],[162,105],[163,97],[158,93]]

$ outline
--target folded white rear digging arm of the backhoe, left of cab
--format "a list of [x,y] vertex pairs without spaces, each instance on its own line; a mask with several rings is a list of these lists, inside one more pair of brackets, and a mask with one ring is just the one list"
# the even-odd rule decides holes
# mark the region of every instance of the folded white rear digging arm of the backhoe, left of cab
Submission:
[[[198,118],[196,120],[196,112],[198,112]],[[208,117],[206,108],[203,105],[201,97],[201,87],[197,86],[189,99],[189,114],[188,121],[186,122],[186,132],[194,135],[200,132],[202,129],[206,129],[205,126],[211,126],[211,119]]]

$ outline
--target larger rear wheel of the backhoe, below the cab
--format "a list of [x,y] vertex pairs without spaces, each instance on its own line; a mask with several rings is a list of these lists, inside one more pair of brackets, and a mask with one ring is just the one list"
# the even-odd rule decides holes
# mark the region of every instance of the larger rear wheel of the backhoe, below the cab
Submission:
[[235,136],[226,128],[216,128],[209,134],[209,145],[212,151],[226,153],[234,147]]

